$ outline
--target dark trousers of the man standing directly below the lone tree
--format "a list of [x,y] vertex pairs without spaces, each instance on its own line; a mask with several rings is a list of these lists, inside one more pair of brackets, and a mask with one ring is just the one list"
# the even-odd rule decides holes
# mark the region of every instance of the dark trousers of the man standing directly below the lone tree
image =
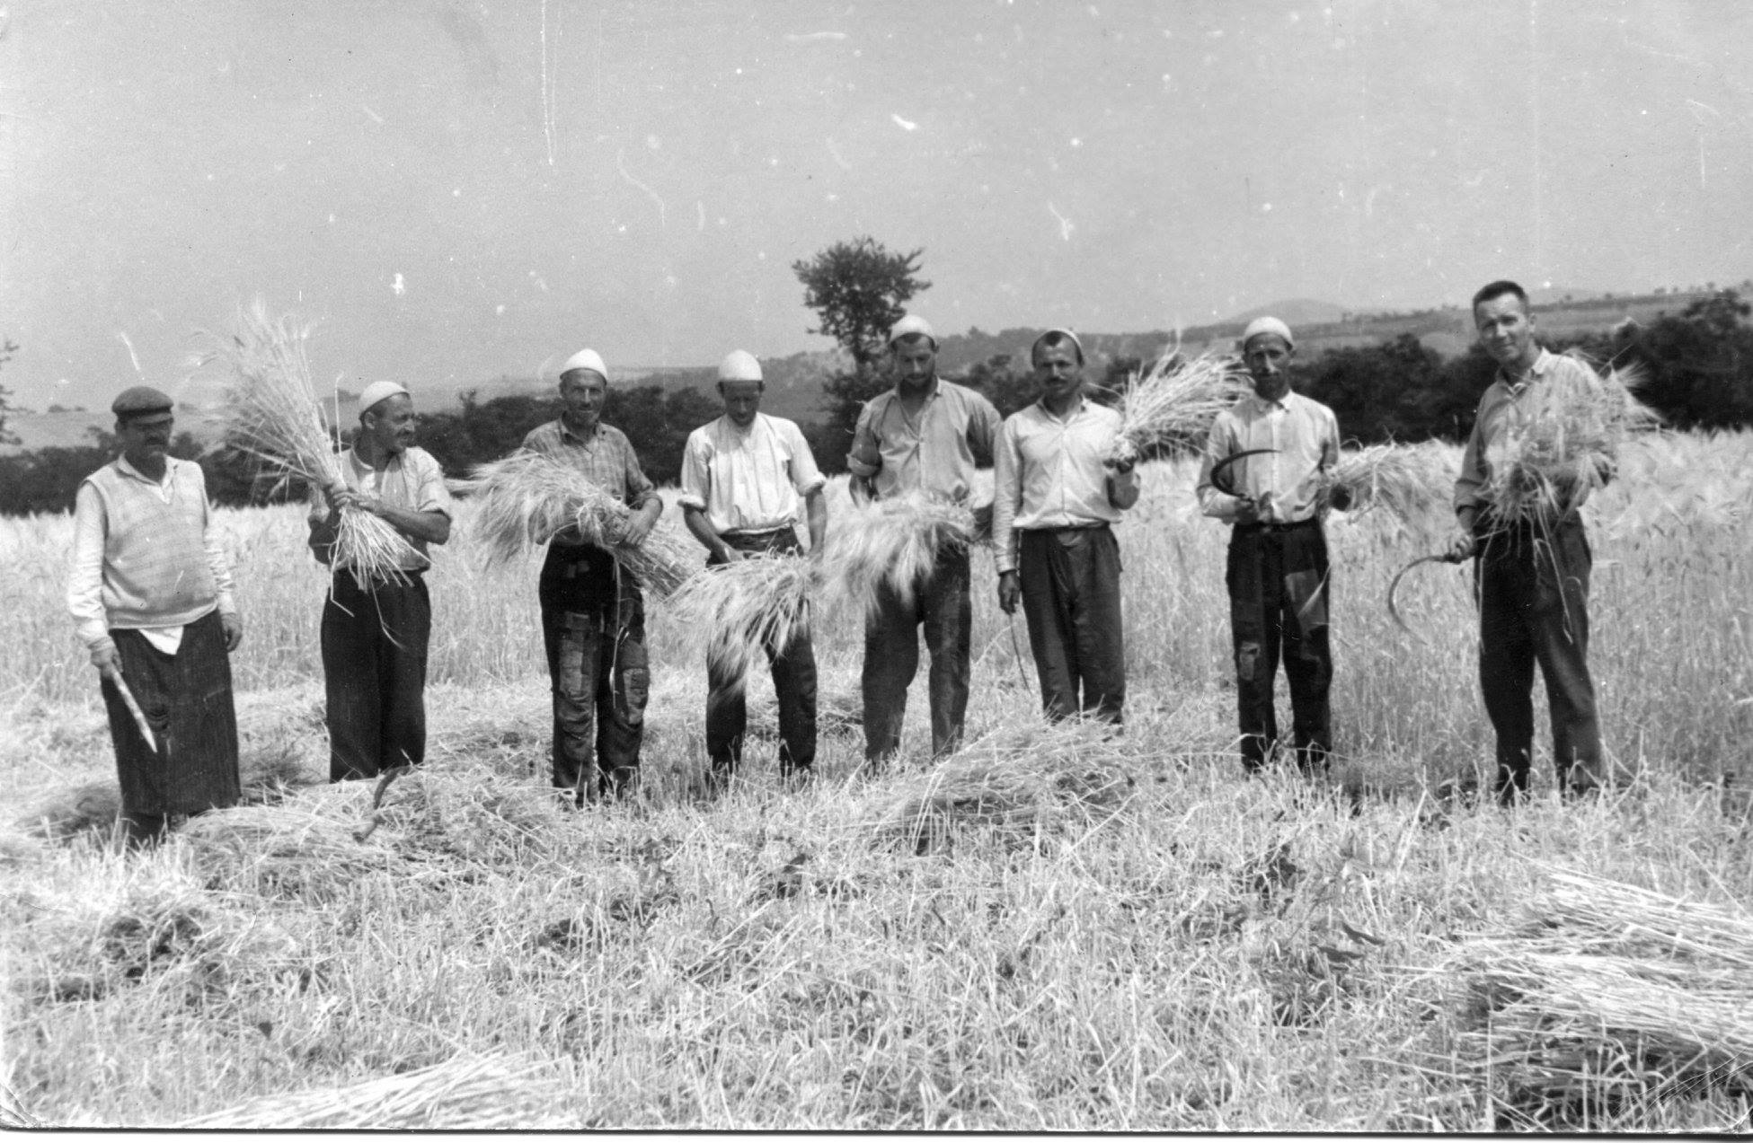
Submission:
[[968,713],[968,640],[973,607],[968,601],[968,550],[938,552],[931,579],[912,603],[901,603],[887,586],[876,591],[876,610],[864,621],[864,759],[882,763],[901,747],[906,687],[919,671],[919,628],[931,652],[931,754],[955,750]]

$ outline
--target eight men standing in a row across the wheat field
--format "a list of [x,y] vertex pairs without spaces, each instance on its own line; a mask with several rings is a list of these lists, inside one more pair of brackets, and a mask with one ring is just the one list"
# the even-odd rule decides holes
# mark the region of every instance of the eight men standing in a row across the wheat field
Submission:
[[[1550,521],[1508,521],[1488,498],[1492,463],[1523,415],[1525,396],[1564,370],[1586,368],[1541,349],[1527,295],[1492,282],[1473,302],[1499,375],[1480,401],[1455,486],[1458,535],[1450,556],[1476,559],[1480,678],[1497,731],[1497,794],[1529,785],[1532,671],[1551,699],[1555,761],[1567,792],[1600,784],[1600,735],[1586,668],[1588,543],[1579,487]],[[1332,410],[1290,389],[1295,342],[1273,317],[1239,344],[1253,393],[1222,412],[1199,472],[1201,510],[1231,526],[1231,600],[1241,759],[1248,773],[1287,754],[1306,773],[1332,752],[1329,689],[1331,568],[1325,503],[1346,507],[1325,479],[1339,458]],[[936,370],[931,326],[905,316],[891,331],[894,387],[859,415],[847,466],[855,500],[903,494],[966,503],[975,470],[994,466],[992,543],[997,603],[1020,605],[1050,719],[1090,717],[1118,733],[1125,703],[1120,514],[1139,496],[1136,452],[1117,445],[1120,415],[1085,391],[1083,345],[1050,330],[1031,347],[1040,398],[1001,419],[987,398]],[[827,529],[824,477],[803,433],[761,412],[764,380],[736,351],[719,368],[724,415],[692,431],[680,507],[708,566],[808,550]],[[589,477],[629,508],[624,545],[642,543],[663,501],[633,445],[603,424],[608,368],[584,349],[561,368],[561,415],[522,447]],[[102,675],[123,791],[123,826],[151,840],[175,815],[238,798],[237,726],[228,654],[244,629],[212,528],[200,466],[168,456],[174,407],[133,387],[116,398],[121,456],[86,479],[75,503],[68,607]],[[414,444],[414,401],[394,382],[361,394],[359,431],[340,479],[314,494],[310,547],[331,566],[323,608],[331,780],[417,766],[426,750],[424,680],[431,605],[429,547],[451,535],[438,463]],[[1611,458],[1602,458],[1611,475]],[[1324,503],[1325,500],[1325,503]],[[337,557],[342,510],[368,512],[408,543],[386,579]],[[1541,542],[1536,543],[1536,538]],[[971,568],[945,545],[912,594],[884,589],[866,617],[864,757],[878,770],[901,743],[919,640],[931,656],[931,750],[957,749],[968,708]],[[552,684],[552,780],[570,803],[626,796],[638,784],[650,668],[640,582],[614,552],[563,531],[549,543],[538,600]],[[806,778],[815,764],[817,677],[810,631],[768,647],[778,698],[778,766]],[[1273,685],[1283,663],[1292,733],[1283,742]],[[708,673],[706,752],[722,787],[747,729],[743,680]]]

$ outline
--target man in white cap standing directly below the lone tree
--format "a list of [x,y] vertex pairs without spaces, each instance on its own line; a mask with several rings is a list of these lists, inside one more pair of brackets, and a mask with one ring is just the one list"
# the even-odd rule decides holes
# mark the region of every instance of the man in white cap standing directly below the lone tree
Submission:
[[[866,401],[852,433],[854,498],[922,494],[966,501],[975,459],[992,454],[999,415],[992,403],[938,377],[938,338],[922,317],[889,331],[894,389]],[[910,605],[887,586],[864,621],[864,761],[878,768],[901,747],[906,687],[919,670],[919,628],[931,650],[931,754],[955,750],[968,712],[968,550],[938,552],[931,579]]]

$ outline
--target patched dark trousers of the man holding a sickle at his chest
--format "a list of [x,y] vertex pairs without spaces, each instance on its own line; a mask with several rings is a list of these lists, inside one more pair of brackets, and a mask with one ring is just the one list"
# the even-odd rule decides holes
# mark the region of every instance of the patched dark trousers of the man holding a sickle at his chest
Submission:
[[1257,771],[1278,742],[1273,684],[1283,657],[1292,742],[1304,773],[1332,750],[1327,536],[1318,521],[1238,524],[1229,536],[1229,624],[1236,643],[1241,764]]

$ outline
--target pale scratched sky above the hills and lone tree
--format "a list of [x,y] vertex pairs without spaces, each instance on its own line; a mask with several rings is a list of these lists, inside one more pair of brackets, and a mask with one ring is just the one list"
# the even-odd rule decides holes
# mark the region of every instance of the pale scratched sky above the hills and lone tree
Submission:
[[1730,0],[0,4],[37,408],[254,295],[354,389],[817,349],[791,263],[859,233],[943,331],[1753,272]]

